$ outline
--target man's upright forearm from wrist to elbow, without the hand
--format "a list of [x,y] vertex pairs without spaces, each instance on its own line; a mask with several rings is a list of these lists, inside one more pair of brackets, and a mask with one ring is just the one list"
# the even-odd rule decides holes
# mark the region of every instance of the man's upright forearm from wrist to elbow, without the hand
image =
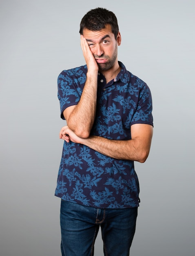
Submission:
[[97,102],[97,76],[96,72],[87,74],[86,83],[80,98],[68,118],[68,126],[76,135],[82,138],[89,137],[95,120]]

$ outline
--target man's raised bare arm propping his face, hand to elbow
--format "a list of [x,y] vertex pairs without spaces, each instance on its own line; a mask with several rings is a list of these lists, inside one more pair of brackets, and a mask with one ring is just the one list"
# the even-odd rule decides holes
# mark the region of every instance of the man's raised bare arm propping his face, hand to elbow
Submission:
[[86,83],[77,105],[66,108],[63,112],[67,125],[80,138],[89,137],[96,112],[98,64],[85,38],[81,36],[81,47],[88,68]]

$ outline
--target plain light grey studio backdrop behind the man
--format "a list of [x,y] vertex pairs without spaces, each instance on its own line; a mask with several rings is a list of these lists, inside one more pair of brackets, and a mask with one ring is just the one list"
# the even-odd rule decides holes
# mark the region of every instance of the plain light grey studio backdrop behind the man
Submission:
[[85,64],[79,24],[95,7],[116,14],[119,60],[153,95],[131,255],[194,256],[193,0],[0,1],[0,256],[60,256],[57,77]]

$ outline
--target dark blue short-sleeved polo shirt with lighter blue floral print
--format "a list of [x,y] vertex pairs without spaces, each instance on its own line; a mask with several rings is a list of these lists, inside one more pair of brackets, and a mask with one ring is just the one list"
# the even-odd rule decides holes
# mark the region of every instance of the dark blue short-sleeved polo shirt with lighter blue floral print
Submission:
[[[132,124],[153,126],[151,92],[142,80],[122,68],[106,84],[98,73],[97,110],[91,135],[131,139]],[[86,65],[64,70],[58,76],[61,117],[65,108],[80,100]],[[63,200],[97,208],[139,206],[139,182],[134,163],[107,157],[73,142],[64,141],[55,195]]]

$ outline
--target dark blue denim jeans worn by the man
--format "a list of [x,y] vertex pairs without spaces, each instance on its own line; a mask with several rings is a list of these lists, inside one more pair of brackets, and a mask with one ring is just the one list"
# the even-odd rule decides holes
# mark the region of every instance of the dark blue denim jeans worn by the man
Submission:
[[104,256],[128,256],[136,218],[137,207],[98,209],[62,200],[62,256],[93,256],[99,227],[102,230]]

